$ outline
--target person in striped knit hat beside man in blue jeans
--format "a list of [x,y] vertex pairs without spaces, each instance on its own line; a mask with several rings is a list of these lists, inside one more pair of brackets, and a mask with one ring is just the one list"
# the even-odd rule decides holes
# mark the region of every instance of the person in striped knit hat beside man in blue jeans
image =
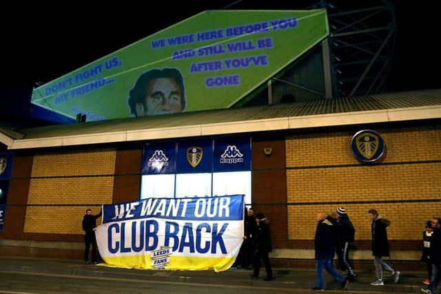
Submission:
[[353,243],[356,235],[356,229],[353,228],[353,224],[347,215],[346,210],[343,207],[338,207],[338,244],[336,248],[338,264],[342,273],[347,275],[349,281],[356,281],[357,274],[353,271],[351,264],[349,263],[349,244]]

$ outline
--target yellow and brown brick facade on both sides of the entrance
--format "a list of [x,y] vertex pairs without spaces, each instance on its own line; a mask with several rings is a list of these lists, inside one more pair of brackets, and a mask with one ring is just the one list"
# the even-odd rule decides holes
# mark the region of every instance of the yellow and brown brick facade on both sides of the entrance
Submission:
[[[375,208],[391,220],[392,249],[420,250],[424,221],[441,214],[441,130],[375,130],[387,145],[387,156],[376,165],[353,158],[349,143],[356,130],[253,137],[253,205],[268,216],[275,249],[312,249],[316,213],[344,206],[357,229],[358,249],[369,249],[367,210]],[[16,154],[0,238],[82,242],[88,206],[81,204],[139,199],[141,153],[141,143],[127,143]],[[92,209],[97,213],[99,207]]]

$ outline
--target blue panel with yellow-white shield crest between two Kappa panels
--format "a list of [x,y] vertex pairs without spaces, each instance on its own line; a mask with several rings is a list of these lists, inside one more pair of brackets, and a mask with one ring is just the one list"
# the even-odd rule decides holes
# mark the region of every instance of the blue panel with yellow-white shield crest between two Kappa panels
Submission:
[[178,143],[177,174],[211,173],[213,140]]

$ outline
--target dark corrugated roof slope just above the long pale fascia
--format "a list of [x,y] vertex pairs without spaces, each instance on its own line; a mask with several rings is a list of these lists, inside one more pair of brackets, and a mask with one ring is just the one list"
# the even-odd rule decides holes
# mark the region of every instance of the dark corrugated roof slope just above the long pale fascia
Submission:
[[[441,105],[441,89],[434,89],[351,98],[317,99],[296,103],[207,110],[203,112],[188,112],[163,116],[144,116],[141,118],[125,118],[70,125],[54,125],[50,127],[22,129],[20,134],[22,136],[24,135],[25,139],[81,136],[85,134],[121,132],[137,129],[185,127],[239,121],[246,122],[249,120],[270,118],[292,118],[296,116],[343,114],[345,112],[366,112],[371,110],[406,109],[439,105]],[[441,114],[435,115],[432,118],[440,117]],[[0,132],[3,133],[1,129]]]

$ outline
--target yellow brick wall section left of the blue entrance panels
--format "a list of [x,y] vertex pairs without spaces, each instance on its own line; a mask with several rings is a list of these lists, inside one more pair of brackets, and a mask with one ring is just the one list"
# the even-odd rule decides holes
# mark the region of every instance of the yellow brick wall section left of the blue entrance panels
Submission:
[[[112,203],[114,149],[47,152],[34,155],[25,233],[81,234],[88,204]],[[83,206],[60,206],[83,204]]]

